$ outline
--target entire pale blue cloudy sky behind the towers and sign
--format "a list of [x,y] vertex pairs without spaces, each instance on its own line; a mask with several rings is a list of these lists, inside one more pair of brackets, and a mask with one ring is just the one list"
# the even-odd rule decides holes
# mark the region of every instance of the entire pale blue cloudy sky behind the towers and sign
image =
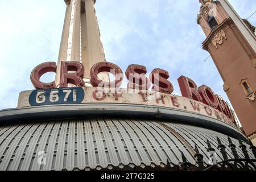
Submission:
[[[256,10],[255,0],[230,3],[242,18]],[[148,72],[166,69],[175,94],[180,94],[177,78],[184,75],[228,100],[212,59],[204,62],[199,7],[198,0],[97,0],[106,59],[123,71],[134,63]],[[16,107],[19,92],[34,89],[30,73],[36,65],[57,61],[64,14],[63,0],[0,0],[0,109]],[[256,14],[249,20],[256,25]]]

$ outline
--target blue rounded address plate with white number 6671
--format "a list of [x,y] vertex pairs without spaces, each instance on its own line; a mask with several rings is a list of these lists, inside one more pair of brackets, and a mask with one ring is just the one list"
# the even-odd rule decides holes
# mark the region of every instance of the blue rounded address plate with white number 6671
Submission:
[[29,97],[31,106],[80,104],[84,100],[84,89],[57,88],[33,90]]

